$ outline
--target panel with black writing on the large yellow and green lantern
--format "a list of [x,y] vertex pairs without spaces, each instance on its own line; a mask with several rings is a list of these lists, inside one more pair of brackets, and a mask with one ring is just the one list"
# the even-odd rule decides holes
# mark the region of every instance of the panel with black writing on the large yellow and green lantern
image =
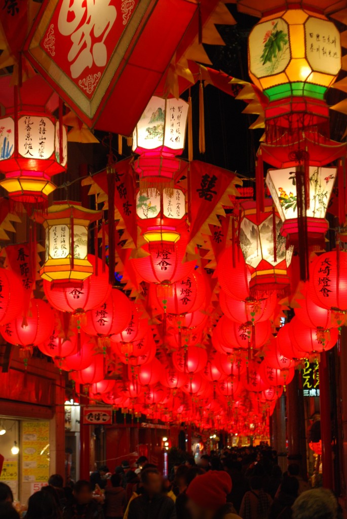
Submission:
[[340,33],[334,23],[310,17],[305,23],[307,61],[317,72],[336,76],[341,69]]

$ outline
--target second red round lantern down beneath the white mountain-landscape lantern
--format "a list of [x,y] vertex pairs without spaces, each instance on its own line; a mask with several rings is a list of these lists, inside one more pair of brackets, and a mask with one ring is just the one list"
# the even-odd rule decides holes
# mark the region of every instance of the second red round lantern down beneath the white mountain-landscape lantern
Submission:
[[270,335],[271,324],[269,321],[252,326],[248,323],[235,323],[223,316],[219,319],[212,337],[216,350],[221,353],[228,353],[234,348],[247,349],[253,346],[258,349],[267,342]]

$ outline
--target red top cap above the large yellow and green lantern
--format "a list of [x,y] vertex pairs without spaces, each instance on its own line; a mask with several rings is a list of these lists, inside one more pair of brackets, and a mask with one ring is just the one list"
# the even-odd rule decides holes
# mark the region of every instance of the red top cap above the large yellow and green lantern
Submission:
[[286,9],[308,9],[329,15],[333,12],[344,9],[347,6],[346,0],[237,0],[238,10],[246,15],[261,18],[265,13],[276,12]]

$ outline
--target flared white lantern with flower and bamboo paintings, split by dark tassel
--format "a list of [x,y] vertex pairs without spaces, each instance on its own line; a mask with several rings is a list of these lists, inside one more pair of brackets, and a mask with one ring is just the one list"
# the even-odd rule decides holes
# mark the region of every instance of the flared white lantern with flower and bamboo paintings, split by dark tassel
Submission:
[[[310,243],[323,241],[324,244],[324,235],[328,230],[325,214],[334,187],[336,171],[336,168],[309,168],[310,205],[306,209],[306,216]],[[283,221],[281,234],[289,243],[297,243],[299,231],[295,168],[270,169],[266,183]]]

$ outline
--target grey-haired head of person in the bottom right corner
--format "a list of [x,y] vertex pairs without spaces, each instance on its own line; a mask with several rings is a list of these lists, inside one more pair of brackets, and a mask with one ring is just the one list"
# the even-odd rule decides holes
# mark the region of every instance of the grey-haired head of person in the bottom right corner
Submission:
[[292,510],[293,519],[336,519],[337,501],[331,490],[314,488],[300,494]]

